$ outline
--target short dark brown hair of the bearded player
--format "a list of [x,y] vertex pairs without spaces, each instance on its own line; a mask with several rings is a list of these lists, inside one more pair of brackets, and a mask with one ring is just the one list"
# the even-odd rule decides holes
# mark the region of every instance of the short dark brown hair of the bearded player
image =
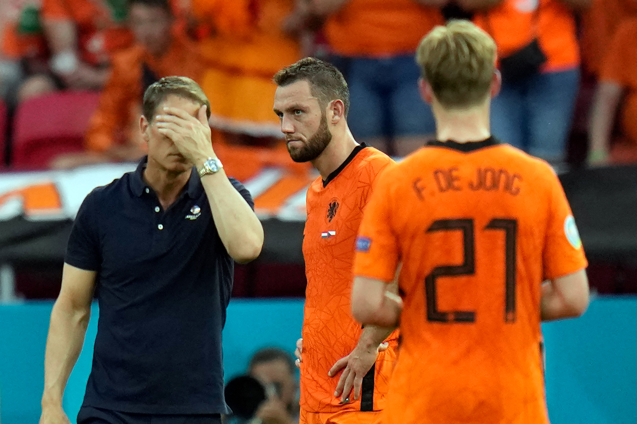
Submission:
[[311,94],[318,99],[322,107],[333,100],[341,100],[345,104],[347,117],[350,110],[350,89],[341,71],[333,64],[315,57],[305,57],[278,71],[273,79],[279,87],[296,81],[308,81]]

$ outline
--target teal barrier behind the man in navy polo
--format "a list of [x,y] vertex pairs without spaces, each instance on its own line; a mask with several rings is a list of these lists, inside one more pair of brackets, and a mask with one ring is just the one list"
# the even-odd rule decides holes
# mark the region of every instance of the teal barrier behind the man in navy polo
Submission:
[[[44,351],[52,302],[0,305],[0,422],[38,423],[43,390]],[[89,378],[97,332],[97,306],[82,355],[71,373],[64,409],[75,423]],[[266,346],[294,352],[301,337],[303,300],[233,300],[224,329],[226,378],[243,374],[252,354]]]

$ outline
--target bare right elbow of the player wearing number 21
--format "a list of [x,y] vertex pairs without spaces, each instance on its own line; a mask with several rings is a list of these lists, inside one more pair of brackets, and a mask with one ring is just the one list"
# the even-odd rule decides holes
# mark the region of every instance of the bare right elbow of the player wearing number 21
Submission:
[[584,269],[542,285],[542,321],[580,316],[588,306],[589,280]]

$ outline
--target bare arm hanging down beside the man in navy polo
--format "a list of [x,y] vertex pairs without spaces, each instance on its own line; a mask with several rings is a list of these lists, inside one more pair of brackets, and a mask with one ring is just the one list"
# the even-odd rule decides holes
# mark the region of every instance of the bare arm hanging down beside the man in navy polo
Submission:
[[95,271],[64,264],[62,288],[51,312],[45,353],[44,392],[40,424],[70,424],[62,396],[80,356],[90,318]]

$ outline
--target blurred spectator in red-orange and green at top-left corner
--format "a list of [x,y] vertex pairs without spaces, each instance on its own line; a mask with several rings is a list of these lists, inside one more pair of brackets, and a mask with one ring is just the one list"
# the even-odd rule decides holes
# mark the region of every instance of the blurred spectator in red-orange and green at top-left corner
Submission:
[[0,97],[15,105],[25,75],[46,68],[46,45],[39,20],[41,0],[0,1]]

